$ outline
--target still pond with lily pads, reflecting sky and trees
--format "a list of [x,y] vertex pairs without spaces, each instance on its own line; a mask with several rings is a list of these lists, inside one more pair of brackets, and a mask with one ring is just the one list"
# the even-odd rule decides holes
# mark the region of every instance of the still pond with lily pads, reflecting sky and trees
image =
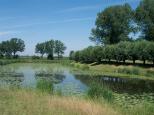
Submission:
[[[154,81],[76,74],[78,71],[60,64],[18,63],[0,67],[0,85],[36,88],[46,80],[65,96],[86,95],[93,82],[114,92],[115,102],[132,106],[143,101],[154,103]],[[102,85],[103,84],[103,85]]]

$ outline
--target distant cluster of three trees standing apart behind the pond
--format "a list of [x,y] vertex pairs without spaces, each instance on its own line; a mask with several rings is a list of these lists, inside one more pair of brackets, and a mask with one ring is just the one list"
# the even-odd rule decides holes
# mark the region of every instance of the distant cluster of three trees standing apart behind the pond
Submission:
[[54,59],[54,54],[60,59],[66,46],[60,40],[50,40],[42,43],[38,43],[35,47],[35,52],[41,54],[41,58],[46,54],[48,59]]

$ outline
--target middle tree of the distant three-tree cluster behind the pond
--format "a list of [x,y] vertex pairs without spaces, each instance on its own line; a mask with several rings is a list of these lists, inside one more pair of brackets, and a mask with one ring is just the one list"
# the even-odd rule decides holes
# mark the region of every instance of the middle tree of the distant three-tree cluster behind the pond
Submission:
[[47,41],[45,42],[45,44],[46,44],[45,52],[48,55],[47,58],[53,60],[54,59],[53,53],[55,47],[54,40]]

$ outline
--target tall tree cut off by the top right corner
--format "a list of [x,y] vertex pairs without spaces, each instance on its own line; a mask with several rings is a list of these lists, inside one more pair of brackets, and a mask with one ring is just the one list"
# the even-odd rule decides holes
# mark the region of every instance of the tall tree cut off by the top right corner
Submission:
[[154,41],[154,0],[142,0],[136,8],[135,18],[142,31],[142,37]]

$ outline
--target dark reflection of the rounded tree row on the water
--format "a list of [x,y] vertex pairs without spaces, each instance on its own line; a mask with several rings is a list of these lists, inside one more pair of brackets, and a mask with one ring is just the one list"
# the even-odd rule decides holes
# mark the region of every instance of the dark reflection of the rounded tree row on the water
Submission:
[[92,82],[108,86],[112,91],[117,93],[154,93],[154,81],[139,80],[139,79],[125,79],[117,77],[103,77],[103,76],[86,76],[75,75],[75,77],[82,81],[82,83],[90,86]]

